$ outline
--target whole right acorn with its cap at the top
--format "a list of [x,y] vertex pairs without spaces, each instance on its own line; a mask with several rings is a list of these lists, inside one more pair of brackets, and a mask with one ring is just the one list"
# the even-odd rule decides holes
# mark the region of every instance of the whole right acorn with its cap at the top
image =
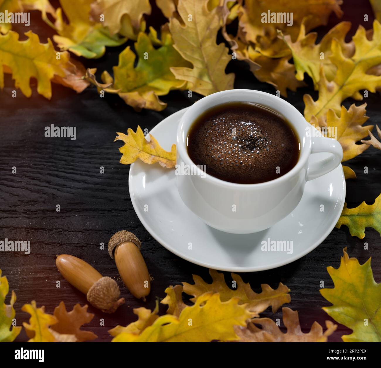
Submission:
[[115,233],[108,244],[110,257],[115,258],[125,286],[135,298],[143,298],[145,301],[151,290],[151,282],[140,247],[140,240],[126,230]]

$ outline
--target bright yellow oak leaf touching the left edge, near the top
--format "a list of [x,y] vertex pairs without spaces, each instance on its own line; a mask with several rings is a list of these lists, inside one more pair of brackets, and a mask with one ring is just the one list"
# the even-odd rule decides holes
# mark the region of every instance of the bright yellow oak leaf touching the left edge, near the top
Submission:
[[27,97],[32,95],[30,78],[36,78],[37,92],[50,99],[51,80],[55,76],[67,77],[69,53],[61,52],[57,59],[49,39],[47,43],[40,43],[32,31],[25,35],[28,37],[25,41],[19,41],[18,33],[13,31],[0,35],[0,88],[4,87],[3,73],[6,71],[12,74],[15,87]]

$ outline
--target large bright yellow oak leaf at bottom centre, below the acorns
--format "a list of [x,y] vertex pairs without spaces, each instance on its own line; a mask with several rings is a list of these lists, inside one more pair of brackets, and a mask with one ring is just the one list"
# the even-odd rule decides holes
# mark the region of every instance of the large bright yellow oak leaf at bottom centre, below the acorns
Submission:
[[206,293],[192,306],[184,308],[179,317],[166,314],[145,328],[140,335],[120,333],[112,341],[233,341],[238,336],[234,326],[245,326],[253,316],[238,298],[221,302],[218,293]]

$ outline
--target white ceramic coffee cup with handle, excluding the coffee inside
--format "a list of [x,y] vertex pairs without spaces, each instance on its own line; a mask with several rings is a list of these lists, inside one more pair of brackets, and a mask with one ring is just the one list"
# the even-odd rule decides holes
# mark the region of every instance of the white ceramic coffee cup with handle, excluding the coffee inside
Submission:
[[[202,98],[182,116],[177,130],[177,164],[194,167],[187,152],[187,136],[191,125],[204,111],[228,102],[250,102],[280,113],[290,122],[300,142],[299,160],[288,173],[259,184],[237,184],[206,173],[176,175],[176,184],[185,205],[206,224],[218,230],[248,234],[271,227],[298,205],[304,186],[340,165],[343,149],[338,141],[311,134],[312,125],[282,98],[266,92],[233,89]],[[310,133],[310,134],[309,134]],[[329,152],[328,158],[309,163],[311,153]]]

